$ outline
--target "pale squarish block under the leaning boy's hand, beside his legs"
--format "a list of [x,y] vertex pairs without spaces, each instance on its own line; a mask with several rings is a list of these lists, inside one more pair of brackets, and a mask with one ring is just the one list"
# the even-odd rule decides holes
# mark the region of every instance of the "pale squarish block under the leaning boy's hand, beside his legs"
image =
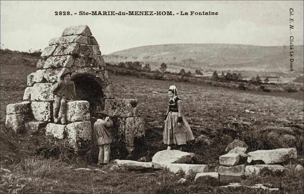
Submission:
[[89,121],[89,102],[85,100],[75,100],[67,103],[67,121]]

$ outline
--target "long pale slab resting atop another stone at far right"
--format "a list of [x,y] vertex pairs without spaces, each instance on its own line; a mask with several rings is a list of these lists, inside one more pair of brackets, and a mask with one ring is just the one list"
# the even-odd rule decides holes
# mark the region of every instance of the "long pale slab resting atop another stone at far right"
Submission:
[[275,164],[289,159],[297,158],[296,148],[279,148],[274,150],[257,150],[247,153],[247,162],[262,160],[265,164]]

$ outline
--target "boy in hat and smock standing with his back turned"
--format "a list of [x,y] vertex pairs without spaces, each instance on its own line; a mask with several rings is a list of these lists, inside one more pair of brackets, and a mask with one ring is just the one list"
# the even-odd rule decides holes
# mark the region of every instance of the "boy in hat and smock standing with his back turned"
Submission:
[[112,136],[109,127],[113,126],[113,121],[109,115],[104,111],[96,112],[98,117],[94,123],[94,135],[96,143],[99,147],[98,165],[106,165],[110,161],[110,152],[112,143]]

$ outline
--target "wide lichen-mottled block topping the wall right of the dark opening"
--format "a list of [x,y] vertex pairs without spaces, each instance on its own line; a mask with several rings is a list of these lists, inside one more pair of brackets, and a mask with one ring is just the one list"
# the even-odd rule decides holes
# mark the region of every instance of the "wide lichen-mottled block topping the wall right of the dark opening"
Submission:
[[114,117],[137,117],[137,99],[106,99],[105,111]]

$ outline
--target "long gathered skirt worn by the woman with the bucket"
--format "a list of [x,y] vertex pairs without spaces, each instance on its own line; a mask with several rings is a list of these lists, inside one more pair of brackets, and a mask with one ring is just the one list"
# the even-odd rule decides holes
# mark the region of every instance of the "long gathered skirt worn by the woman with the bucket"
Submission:
[[[163,132],[164,144],[177,145],[177,141],[173,133],[173,129],[177,127],[177,118],[178,118],[178,112],[169,112]],[[186,141],[194,140],[194,136],[192,134],[191,128],[184,115],[182,116],[182,121],[183,121],[182,126],[186,129]]]

